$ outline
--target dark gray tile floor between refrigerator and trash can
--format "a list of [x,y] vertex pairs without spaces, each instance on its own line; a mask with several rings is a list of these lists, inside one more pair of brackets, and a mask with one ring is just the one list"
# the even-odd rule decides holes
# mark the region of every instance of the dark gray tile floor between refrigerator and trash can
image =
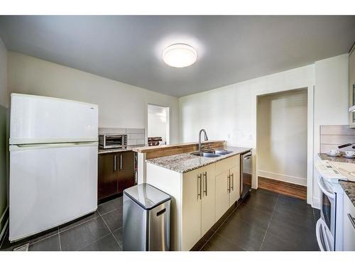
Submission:
[[28,243],[30,251],[122,250],[122,197],[99,204],[94,214],[16,243],[9,229],[0,250],[11,251]]

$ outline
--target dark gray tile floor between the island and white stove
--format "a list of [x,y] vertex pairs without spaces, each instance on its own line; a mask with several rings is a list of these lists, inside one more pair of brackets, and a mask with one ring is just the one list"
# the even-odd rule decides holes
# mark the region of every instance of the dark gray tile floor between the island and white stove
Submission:
[[319,250],[320,217],[305,201],[263,189],[252,191],[201,250]]

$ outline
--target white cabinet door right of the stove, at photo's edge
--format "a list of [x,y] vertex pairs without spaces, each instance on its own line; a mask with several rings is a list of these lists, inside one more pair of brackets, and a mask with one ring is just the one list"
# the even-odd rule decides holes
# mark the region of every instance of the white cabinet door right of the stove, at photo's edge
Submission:
[[344,195],[344,251],[355,251],[355,207]]

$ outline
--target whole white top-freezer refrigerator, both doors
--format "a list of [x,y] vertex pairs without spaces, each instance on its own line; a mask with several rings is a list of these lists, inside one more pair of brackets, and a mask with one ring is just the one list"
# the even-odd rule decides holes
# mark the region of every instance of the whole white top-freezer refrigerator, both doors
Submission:
[[97,209],[98,106],[11,94],[11,242]]

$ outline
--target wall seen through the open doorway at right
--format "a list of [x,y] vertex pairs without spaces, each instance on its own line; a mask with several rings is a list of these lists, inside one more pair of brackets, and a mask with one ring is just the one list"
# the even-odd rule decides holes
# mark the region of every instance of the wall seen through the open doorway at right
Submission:
[[307,185],[307,90],[258,97],[258,176]]

